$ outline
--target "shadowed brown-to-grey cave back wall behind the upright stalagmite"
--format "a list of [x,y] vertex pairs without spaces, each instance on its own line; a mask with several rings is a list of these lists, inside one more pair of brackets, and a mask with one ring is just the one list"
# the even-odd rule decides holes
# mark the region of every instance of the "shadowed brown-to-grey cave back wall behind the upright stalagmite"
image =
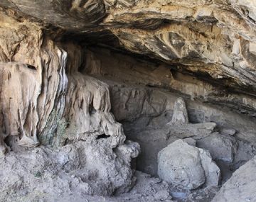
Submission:
[[[242,94],[220,91],[196,77],[170,70],[164,64],[134,59],[102,48],[90,47],[86,61],[82,72],[102,79],[110,86],[112,113],[123,123],[126,133],[131,128],[140,130],[147,125],[163,128],[171,121],[174,103],[182,95],[188,108],[188,119],[193,123],[186,128],[194,134],[209,134],[216,123],[220,130],[235,130],[238,138],[256,142],[255,118],[245,116],[250,113],[250,106],[245,106],[249,99]],[[253,105],[255,101],[251,101]],[[194,125],[206,122],[211,125],[209,130],[203,130],[203,125],[198,124],[198,128]],[[189,135],[186,128],[172,127],[184,137]]]

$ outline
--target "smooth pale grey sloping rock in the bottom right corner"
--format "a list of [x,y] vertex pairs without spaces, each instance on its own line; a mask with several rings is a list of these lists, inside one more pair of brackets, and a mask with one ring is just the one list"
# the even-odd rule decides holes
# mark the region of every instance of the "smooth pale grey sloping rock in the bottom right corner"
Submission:
[[240,167],[223,185],[213,202],[256,201],[256,158]]

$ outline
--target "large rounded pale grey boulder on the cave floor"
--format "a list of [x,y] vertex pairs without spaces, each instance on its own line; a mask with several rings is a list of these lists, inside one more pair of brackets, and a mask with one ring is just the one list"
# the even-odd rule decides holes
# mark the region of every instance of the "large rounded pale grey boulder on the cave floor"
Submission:
[[210,154],[183,140],[176,140],[159,152],[158,174],[183,189],[197,189],[203,184],[217,186],[220,180],[220,169]]

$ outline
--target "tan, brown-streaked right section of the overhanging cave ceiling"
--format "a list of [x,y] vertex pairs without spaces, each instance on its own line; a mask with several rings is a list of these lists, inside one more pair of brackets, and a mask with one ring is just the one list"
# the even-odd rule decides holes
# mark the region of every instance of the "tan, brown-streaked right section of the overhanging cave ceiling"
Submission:
[[[134,1],[133,5],[111,9],[103,24],[128,50],[184,64],[191,72],[207,72],[215,79],[231,79],[240,86],[253,87],[253,4]],[[120,26],[120,22],[124,25]]]

